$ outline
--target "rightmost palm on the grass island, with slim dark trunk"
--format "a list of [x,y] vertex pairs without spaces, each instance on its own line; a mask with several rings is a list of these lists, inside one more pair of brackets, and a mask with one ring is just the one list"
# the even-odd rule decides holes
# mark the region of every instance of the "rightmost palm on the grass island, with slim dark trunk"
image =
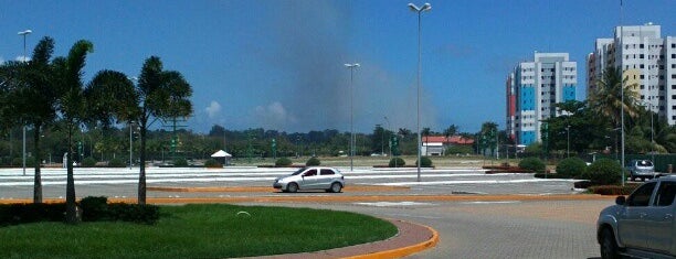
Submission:
[[192,87],[175,71],[163,71],[162,62],[150,56],[144,63],[135,87],[136,104],[133,117],[140,128],[140,170],[138,176],[138,204],[146,204],[146,136],[158,119],[188,117],[192,114]]

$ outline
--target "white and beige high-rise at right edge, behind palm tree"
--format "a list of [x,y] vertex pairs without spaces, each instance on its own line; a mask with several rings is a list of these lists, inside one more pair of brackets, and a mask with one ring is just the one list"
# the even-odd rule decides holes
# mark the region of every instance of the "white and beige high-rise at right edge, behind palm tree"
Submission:
[[587,57],[588,96],[606,67],[620,67],[640,105],[676,125],[676,39],[659,25],[616,26],[613,39],[598,39]]

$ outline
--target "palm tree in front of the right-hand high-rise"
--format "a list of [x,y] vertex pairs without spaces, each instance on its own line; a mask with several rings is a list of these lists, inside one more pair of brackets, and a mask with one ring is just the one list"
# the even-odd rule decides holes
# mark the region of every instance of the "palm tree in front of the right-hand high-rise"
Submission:
[[[636,108],[636,93],[630,89],[633,88],[635,84],[626,85],[626,77],[622,79],[622,72],[620,68],[608,67],[596,83],[598,88],[590,93],[589,97],[591,108],[610,118],[615,127],[619,127],[621,123],[621,110],[623,106],[624,112],[630,118],[635,118],[638,115],[638,109]],[[624,102],[622,101],[622,94],[624,94]]]

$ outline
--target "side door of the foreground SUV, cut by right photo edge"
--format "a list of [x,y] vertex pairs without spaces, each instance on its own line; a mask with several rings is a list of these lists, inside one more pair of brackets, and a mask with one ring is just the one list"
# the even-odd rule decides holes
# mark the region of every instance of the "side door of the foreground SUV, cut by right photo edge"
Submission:
[[674,199],[676,182],[662,181],[657,187],[654,202],[645,217],[646,233],[649,235],[648,247],[659,252],[669,252],[674,241]]

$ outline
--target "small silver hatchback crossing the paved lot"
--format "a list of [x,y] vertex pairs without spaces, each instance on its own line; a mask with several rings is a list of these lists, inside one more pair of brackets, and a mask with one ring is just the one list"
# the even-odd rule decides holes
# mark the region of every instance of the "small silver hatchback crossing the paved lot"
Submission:
[[339,193],[345,187],[345,177],[338,170],[331,168],[303,168],[292,175],[275,180],[273,187],[289,193],[298,192],[298,190],[325,190],[330,193]]

